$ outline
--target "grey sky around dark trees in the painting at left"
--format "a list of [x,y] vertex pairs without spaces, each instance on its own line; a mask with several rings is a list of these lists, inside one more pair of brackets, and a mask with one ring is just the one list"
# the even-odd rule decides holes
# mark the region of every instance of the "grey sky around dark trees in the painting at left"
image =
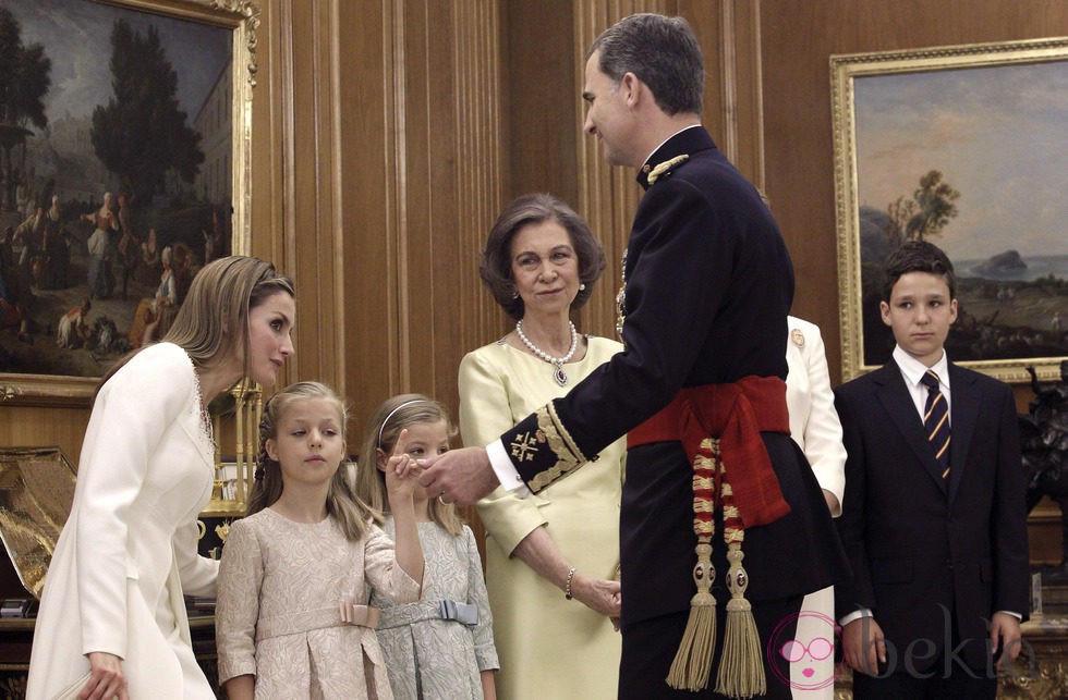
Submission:
[[3,0],[24,45],[40,42],[52,62],[49,120],[85,116],[111,98],[111,27],[119,17],[144,33],[155,25],[178,73],[178,100],[192,122],[230,57],[231,32],[90,0]]

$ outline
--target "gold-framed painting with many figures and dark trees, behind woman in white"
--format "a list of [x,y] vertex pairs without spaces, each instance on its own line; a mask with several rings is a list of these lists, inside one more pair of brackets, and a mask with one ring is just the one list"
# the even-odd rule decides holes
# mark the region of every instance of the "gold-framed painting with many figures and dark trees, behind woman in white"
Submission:
[[258,7],[0,5],[0,403],[84,405],[248,250]]

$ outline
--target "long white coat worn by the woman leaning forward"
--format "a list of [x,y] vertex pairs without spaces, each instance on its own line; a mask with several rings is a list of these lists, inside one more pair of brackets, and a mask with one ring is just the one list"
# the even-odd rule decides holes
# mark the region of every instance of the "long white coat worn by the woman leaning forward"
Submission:
[[74,504],[45,578],[28,700],[123,659],[130,697],[214,698],[196,664],[183,592],[214,595],[218,562],[196,553],[214,449],[193,363],[160,343],[100,389],[82,446]]

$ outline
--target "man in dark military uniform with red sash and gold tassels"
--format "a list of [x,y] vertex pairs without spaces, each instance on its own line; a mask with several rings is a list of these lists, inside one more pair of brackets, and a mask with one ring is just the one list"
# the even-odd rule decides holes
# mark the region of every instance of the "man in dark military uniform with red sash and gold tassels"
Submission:
[[[636,168],[645,189],[619,298],[626,349],[486,449],[429,463],[421,481],[461,503],[498,481],[537,492],[628,433],[620,697],[744,697],[761,692],[766,676],[767,696],[788,698],[778,649],[793,638],[803,594],[847,565],[789,437],[790,258],[757,191],[701,126],[703,82],[700,47],[681,17],[632,15],[594,41],[584,131],[609,163]],[[744,572],[728,570],[725,535],[744,554]],[[729,600],[740,601],[731,613]],[[754,648],[730,619],[750,604],[755,668],[752,658],[720,664],[725,638]],[[680,644],[684,633],[713,653]]]

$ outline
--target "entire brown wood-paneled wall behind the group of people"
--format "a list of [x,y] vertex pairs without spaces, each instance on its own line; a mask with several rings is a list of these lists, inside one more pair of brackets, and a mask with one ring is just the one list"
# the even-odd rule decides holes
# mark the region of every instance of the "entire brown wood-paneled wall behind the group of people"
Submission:
[[[253,253],[295,278],[298,353],[280,381],[349,396],[356,450],[387,396],[456,409],[463,353],[508,324],[477,279],[503,202],[546,191],[602,237],[579,314],[611,334],[641,192],[581,133],[583,56],[618,17],[679,13],[705,52],[704,122],[769,196],[840,377],[828,57],[1068,35],[1063,0],[263,0],[253,105]],[[1029,398],[1018,390],[1021,409]],[[84,408],[0,405],[0,443],[74,459]]]

